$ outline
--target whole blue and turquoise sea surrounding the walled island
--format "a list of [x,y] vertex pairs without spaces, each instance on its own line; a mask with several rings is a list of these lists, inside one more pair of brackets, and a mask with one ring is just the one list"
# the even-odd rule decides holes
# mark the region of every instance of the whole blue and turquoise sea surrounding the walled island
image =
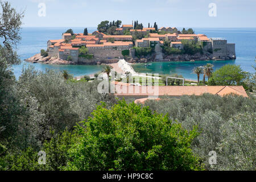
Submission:
[[[28,57],[39,53],[41,49],[47,49],[49,39],[61,39],[61,34],[72,27],[23,27],[20,33],[22,40],[18,44],[17,52],[21,64],[13,65],[15,77],[22,74],[22,69],[32,65],[35,69],[45,72],[53,69],[56,72],[67,70],[73,76],[92,75],[100,72],[102,65],[52,65],[40,63],[28,63],[24,61]],[[178,28],[181,30],[182,28]],[[74,33],[84,32],[84,27],[73,27]],[[184,78],[196,80],[197,76],[192,73],[193,68],[203,66],[207,63],[214,65],[214,70],[225,64],[240,65],[244,71],[254,73],[256,56],[256,28],[193,28],[196,34],[205,34],[208,38],[226,38],[228,43],[236,43],[236,60],[216,61],[180,61],[180,62],[157,62],[147,67],[144,64],[134,64],[133,68],[139,73],[159,73],[172,75],[177,73]],[[96,31],[96,27],[88,28],[88,32]]]

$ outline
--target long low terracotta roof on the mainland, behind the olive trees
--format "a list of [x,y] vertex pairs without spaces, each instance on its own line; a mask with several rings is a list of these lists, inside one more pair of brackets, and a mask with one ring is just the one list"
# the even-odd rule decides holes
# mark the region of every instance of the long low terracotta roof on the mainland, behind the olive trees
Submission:
[[[154,89],[158,92],[154,93]],[[126,90],[126,92],[124,92]],[[148,90],[148,91],[147,91]],[[117,96],[183,96],[196,95],[200,96],[204,93],[217,94],[224,96],[225,94],[238,94],[243,97],[248,97],[243,86],[119,86],[115,87],[115,95]]]

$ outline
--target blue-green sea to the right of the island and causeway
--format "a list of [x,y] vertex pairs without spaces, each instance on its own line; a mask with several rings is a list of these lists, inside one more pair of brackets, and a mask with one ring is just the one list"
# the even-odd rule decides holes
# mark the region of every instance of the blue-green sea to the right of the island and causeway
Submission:
[[252,65],[255,65],[256,56],[256,28],[193,28],[196,34],[205,34],[209,38],[226,38],[228,43],[236,43],[236,60],[225,61],[184,61],[184,62],[165,62],[152,63],[145,67],[144,64],[135,64],[133,68],[141,73],[159,73],[183,75],[184,78],[197,80],[197,76],[192,73],[192,69],[211,63],[214,70],[225,64],[241,65],[247,72],[254,73]]

